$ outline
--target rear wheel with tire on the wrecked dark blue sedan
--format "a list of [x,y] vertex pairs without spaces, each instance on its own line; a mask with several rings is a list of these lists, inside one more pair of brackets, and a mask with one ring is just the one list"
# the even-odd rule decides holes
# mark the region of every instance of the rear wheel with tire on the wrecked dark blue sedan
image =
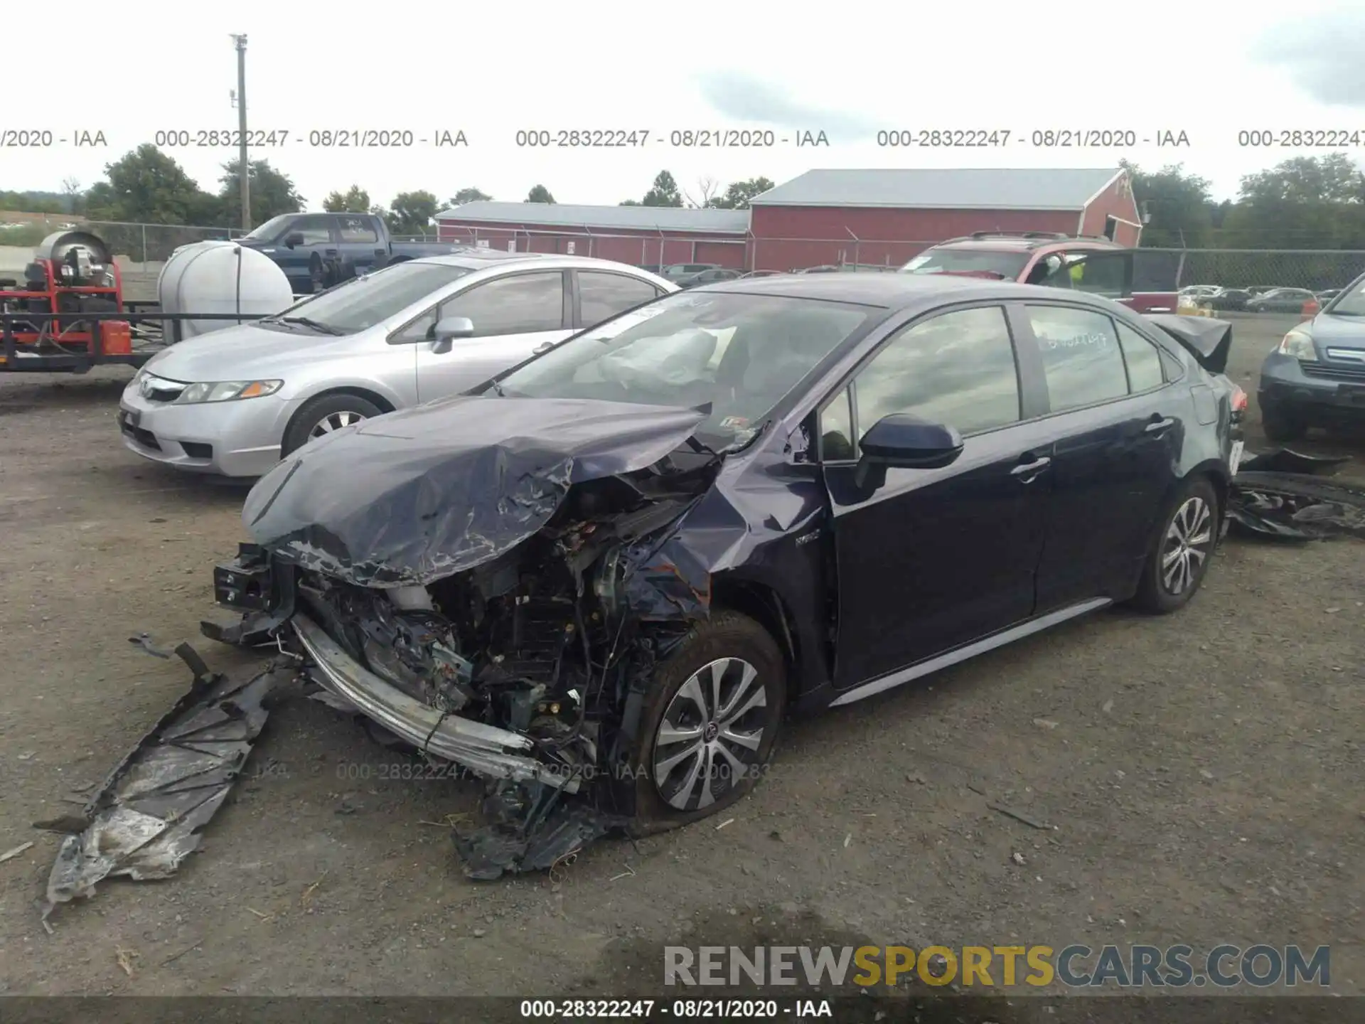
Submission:
[[1207,477],[1186,481],[1162,512],[1162,528],[1147,556],[1133,606],[1168,614],[1189,603],[1208,573],[1223,511]]

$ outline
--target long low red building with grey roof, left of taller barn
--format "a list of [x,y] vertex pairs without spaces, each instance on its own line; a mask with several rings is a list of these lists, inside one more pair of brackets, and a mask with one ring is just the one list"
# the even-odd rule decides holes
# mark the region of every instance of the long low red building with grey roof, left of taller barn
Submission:
[[748,210],[467,202],[435,217],[441,242],[560,253],[635,266],[718,264],[745,269]]

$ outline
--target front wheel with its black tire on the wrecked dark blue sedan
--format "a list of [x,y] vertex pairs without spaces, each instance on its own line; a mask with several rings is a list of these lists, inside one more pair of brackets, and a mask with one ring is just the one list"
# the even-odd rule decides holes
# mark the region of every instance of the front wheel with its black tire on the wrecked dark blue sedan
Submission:
[[747,796],[777,748],[786,664],[767,629],[737,612],[698,624],[655,674],[640,715],[635,826],[688,825]]

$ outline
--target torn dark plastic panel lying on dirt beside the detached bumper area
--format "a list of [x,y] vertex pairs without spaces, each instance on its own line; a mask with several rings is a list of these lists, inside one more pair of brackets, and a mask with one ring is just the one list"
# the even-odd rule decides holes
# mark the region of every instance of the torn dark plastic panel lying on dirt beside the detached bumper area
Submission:
[[289,679],[272,664],[244,683],[210,673],[187,643],[175,651],[194,673],[190,691],[113,769],[81,816],[35,827],[66,831],[48,878],[48,918],[94,894],[111,877],[168,878],[199,845],[265,725],[265,699]]

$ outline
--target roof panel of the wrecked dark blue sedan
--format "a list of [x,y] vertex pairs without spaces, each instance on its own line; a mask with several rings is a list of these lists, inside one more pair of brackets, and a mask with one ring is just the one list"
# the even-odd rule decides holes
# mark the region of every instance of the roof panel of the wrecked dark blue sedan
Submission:
[[[1070,302],[1112,311],[1118,303],[1111,299],[1076,292],[1067,288],[1043,288],[1016,281],[994,281],[958,274],[908,273],[831,273],[778,274],[775,277],[740,277],[692,288],[688,295],[704,294],[771,295],[792,299],[818,299],[876,306],[887,310],[934,307],[949,302],[983,299],[1026,300],[1067,299]],[[1123,309],[1118,306],[1118,309]]]

